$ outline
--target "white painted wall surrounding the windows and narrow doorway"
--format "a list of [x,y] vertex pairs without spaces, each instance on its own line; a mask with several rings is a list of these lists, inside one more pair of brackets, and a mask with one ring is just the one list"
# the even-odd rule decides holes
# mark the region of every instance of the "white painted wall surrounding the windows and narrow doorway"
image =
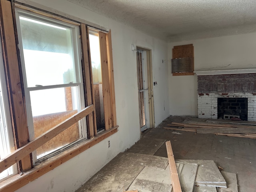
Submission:
[[119,152],[124,152],[140,139],[136,52],[131,50],[131,44],[152,50],[153,81],[158,83],[154,86],[156,126],[168,117],[167,43],[67,0],[20,1],[55,13],[64,12],[67,16],[75,16],[111,29],[118,132],[17,190],[73,192]]

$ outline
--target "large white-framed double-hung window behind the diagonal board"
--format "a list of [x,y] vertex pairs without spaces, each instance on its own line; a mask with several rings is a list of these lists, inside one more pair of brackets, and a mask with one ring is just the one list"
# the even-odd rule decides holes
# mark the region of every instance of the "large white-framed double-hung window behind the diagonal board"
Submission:
[[[84,108],[78,26],[16,12],[30,138],[34,139]],[[40,159],[82,138],[84,120],[36,150]]]

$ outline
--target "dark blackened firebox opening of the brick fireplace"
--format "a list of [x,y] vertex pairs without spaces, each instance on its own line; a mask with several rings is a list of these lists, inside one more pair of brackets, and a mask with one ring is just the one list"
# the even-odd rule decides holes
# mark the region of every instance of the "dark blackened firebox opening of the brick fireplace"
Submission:
[[218,119],[248,120],[248,98],[218,98]]

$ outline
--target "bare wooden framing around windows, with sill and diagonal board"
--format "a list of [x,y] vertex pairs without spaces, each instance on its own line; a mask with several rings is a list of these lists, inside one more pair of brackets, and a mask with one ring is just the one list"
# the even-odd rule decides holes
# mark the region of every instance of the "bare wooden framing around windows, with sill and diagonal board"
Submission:
[[[71,22],[68,19],[58,17],[56,15],[51,15],[49,13],[42,12],[36,8],[30,8],[29,6],[24,6],[24,4],[15,4],[19,8],[24,8],[32,12],[39,14],[52,16],[53,18],[60,19],[62,21]],[[11,165],[13,162],[19,162],[19,171],[22,172],[22,176],[16,175],[3,182],[0,182],[0,191],[14,191],[22,186],[28,184],[34,179],[42,176],[43,174],[49,172],[50,170],[56,168],[63,162],[73,158],[74,156],[82,153],[84,150],[94,146],[98,142],[106,139],[112,134],[118,131],[118,126],[116,124],[116,106],[115,106],[115,94],[114,94],[114,72],[113,72],[113,60],[112,60],[112,44],[111,44],[111,32],[101,32],[100,36],[100,52],[101,61],[103,62],[102,73],[104,76],[104,90],[106,91],[105,96],[107,100],[104,100],[104,108],[106,108],[105,118],[106,120],[106,130],[97,134],[96,131],[96,116],[94,110],[94,95],[93,95],[93,81],[92,81],[92,70],[90,63],[90,50],[88,41],[88,27],[83,23],[76,23],[80,26],[80,42],[82,49],[82,73],[83,73],[83,83],[84,83],[84,95],[86,108],[78,114],[65,120],[62,124],[50,129],[50,132],[39,136],[38,138],[30,141],[28,134],[27,118],[26,118],[26,105],[25,105],[25,94],[24,85],[22,79],[22,70],[19,57],[18,49],[18,38],[16,30],[15,21],[15,10],[13,0],[0,0],[0,27],[2,36],[2,47],[3,47],[3,59],[4,68],[6,74],[6,83],[8,88],[8,99],[11,112],[12,129],[14,133],[15,151],[7,156],[6,158],[0,160],[0,172]],[[103,78],[103,77],[102,77]],[[103,80],[102,80],[103,81]],[[46,159],[39,165],[33,168],[31,150],[42,145],[48,141],[51,137],[56,136],[63,129],[66,129],[66,125],[70,123],[77,122],[80,118],[86,116],[87,126],[88,126],[88,138],[82,142],[72,146],[68,150],[64,150],[54,156],[53,160]],[[36,143],[36,144],[35,144]],[[34,148],[33,148],[34,147]],[[29,148],[29,150],[28,150]],[[7,165],[8,164],[8,165]]]

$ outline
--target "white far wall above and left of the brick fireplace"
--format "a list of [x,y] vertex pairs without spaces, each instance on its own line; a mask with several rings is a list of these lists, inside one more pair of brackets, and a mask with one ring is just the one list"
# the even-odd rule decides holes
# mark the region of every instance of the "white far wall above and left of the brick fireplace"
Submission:
[[197,116],[197,77],[172,76],[172,48],[193,44],[194,70],[256,68],[256,33],[168,43],[170,115]]

